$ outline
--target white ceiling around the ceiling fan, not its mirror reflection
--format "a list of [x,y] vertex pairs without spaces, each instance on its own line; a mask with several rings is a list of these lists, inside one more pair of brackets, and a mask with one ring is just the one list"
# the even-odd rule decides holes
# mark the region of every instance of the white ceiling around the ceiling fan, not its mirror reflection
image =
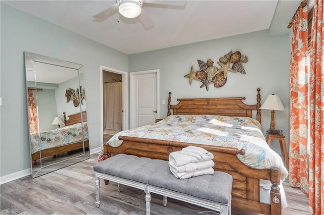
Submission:
[[143,9],[154,22],[150,28],[144,28],[139,18],[127,19],[118,13],[94,22],[92,17],[115,0],[2,3],[133,54],[264,29],[270,29],[271,35],[288,34],[287,25],[301,0],[187,0],[184,6],[145,4],[144,0]]

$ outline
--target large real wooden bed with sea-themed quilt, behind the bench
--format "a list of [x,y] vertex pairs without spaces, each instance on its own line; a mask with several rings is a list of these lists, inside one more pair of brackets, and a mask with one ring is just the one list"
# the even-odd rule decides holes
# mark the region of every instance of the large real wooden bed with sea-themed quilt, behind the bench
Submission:
[[[173,136],[174,139],[171,140],[166,140],[164,137],[161,137],[170,136],[170,132],[167,131],[168,129],[164,129],[166,130],[164,131],[164,135],[157,135],[159,136],[158,138],[153,137],[154,135],[148,136],[149,138],[147,138],[147,135],[144,135],[145,133],[150,134],[152,131],[157,130],[158,127],[161,128],[163,126],[166,126],[161,126],[161,124],[168,122],[172,122],[170,123],[170,125],[173,124],[173,122],[177,120],[177,117],[178,119],[182,119],[182,121],[192,121],[197,120],[192,118],[193,115],[200,115],[199,117],[201,119],[199,118],[199,120],[201,121],[204,120],[204,117],[205,119],[214,119],[214,115],[217,115],[218,122],[232,125],[230,120],[233,120],[236,123],[234,123],[236,127],[241,126],[240,124],[237,124],[238,121],[241,120],[242,123],[246,123],[246,120],[250,120],[251,122],[253,122],[252,124],[255,125],[252,131],[254,136],[255,133],[258,133],[256,131],[256,127],[261,126],[261,112],[259,110],[261,106],[260,89],[257,89],[257,103],[254,105],[245,104],[242,101],[245,100],[245,97],[186,98],[177,100],[179,101],[178,104],[170,104],[170,92],[168,98],[168,117],[164,120],[161,120],[150,126],[145,126],[144,128],[140,127],[133,129],[136,130],[135,133],[137,134],[134,134],[130,132],[130,130],[127,130],[114,135],[106,144],[104,144],[104,157],[108,158],[111,155],[125,153],[134,154],[137,156],[168,160],[169,153],[173,151],[179,151],[182,148],[188,146],[189,144],[198,147],[204,147],[206,150],[214,154],[214,170],[223,171],[233,176],[232,205],[234,207],[264,214],[281,214],[282,192],[280,192],[279,187],[281,186],[280,183],[287,177],[288,171],[284,167],[280,156],[275,152],[274,154],[271,152],[270,155],[267,155],[268,157],[274,156],[275,161],[273,162],[271,161],[271,158],[269,158],[272,163],[270,162],[265,167],[262,167],[259,164],[258,166],[255,163],[252,165],[249,164],[248,166],[248,164],[244,163],[246,162],[246,160],[244,160],[244,157],[248,157],[250,154],[249,144],[238,145],[238,147],[235,147],[235,145],[232,145],[231,143],[227,144],[226,146],[209,145],[209,143],[206,142],[206,139],[200,139],[199,143],[188,142],[187,139],[180,139],[179,141],[179,136],[184,136],[185,133],[185,135],[189,137],[190,133],[195,131],[193,128],[184,130],[178,135],[175,134]],[[175,116],[174,118],[172,118],[171,110],[173,110],[173,115]],[[253,115],[256,115],[256,120],[252,119]],[[186,118],[186,120],[183,120],[184,118]],[[248,127],[248,125],[246,126]],[[163,130],[163,128],[161,129]],[[166,135],[166,132],[169,132],[168,135]],[[230,135],[227,135],[227,138],[229,139],[235,137],[235,135],[232,135],[231,132],[232,131],[229,131]],[[267,153],[268,151],[272,151],[270,147],[266,144],[264,136],[260,131],[260,128],[259,133],[261,134],[259,134],[258,137],[254,138],[258,138],[260,139],[260,141],[262,141],[264,147],[267,148]],[[210,135],[211,138],[208,139],[215,140],[213,139],[213,134]],[[236,137],[239,138],[239,135]],[[224,141],[228,142],[229,140],[224,139]],[[246,141],[246,143],[248,142],[249,140]],[[260,185],[268,181],[271,185],[271,187],[269,186],[269,198],[268,200],[264,200],[263,195],[260,195]]]

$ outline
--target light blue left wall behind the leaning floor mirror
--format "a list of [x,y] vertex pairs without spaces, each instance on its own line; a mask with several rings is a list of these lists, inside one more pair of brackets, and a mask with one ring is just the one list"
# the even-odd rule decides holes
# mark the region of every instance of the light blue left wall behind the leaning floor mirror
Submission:
[[100,147],[100,65],[128,71],[128,55],[1,4],[0,176],[30,168],[24,51],[84,65],[90,149]]

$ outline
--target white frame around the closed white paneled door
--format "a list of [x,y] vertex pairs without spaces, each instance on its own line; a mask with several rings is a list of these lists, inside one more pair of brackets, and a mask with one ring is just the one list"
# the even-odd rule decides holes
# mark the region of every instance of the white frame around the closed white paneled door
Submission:
[[137,75],[146,75],[146,74],[156,74],[156,119],[160,118],[160,70],[154,69],[154,70],[145,70],[145,71],[138,71],[138,72],[130,72],[130,125],[133,123],[133,116],[134,116],[134,109],[133,109],[133,98],[134,98],[134,92],[132,92],[133,89],[133,80],[134,77]]

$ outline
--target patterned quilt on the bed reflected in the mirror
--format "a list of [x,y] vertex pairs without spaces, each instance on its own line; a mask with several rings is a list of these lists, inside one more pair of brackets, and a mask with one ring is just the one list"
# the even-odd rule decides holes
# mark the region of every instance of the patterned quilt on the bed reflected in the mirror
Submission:
[[40,132],[39,134],[33,133],[30,135],[31,153],[80,141],[83,138],[82,130],[84,138],[87,139],[88,122],[83,123],[83,129],[81,123],[77,123],[52,131]]

